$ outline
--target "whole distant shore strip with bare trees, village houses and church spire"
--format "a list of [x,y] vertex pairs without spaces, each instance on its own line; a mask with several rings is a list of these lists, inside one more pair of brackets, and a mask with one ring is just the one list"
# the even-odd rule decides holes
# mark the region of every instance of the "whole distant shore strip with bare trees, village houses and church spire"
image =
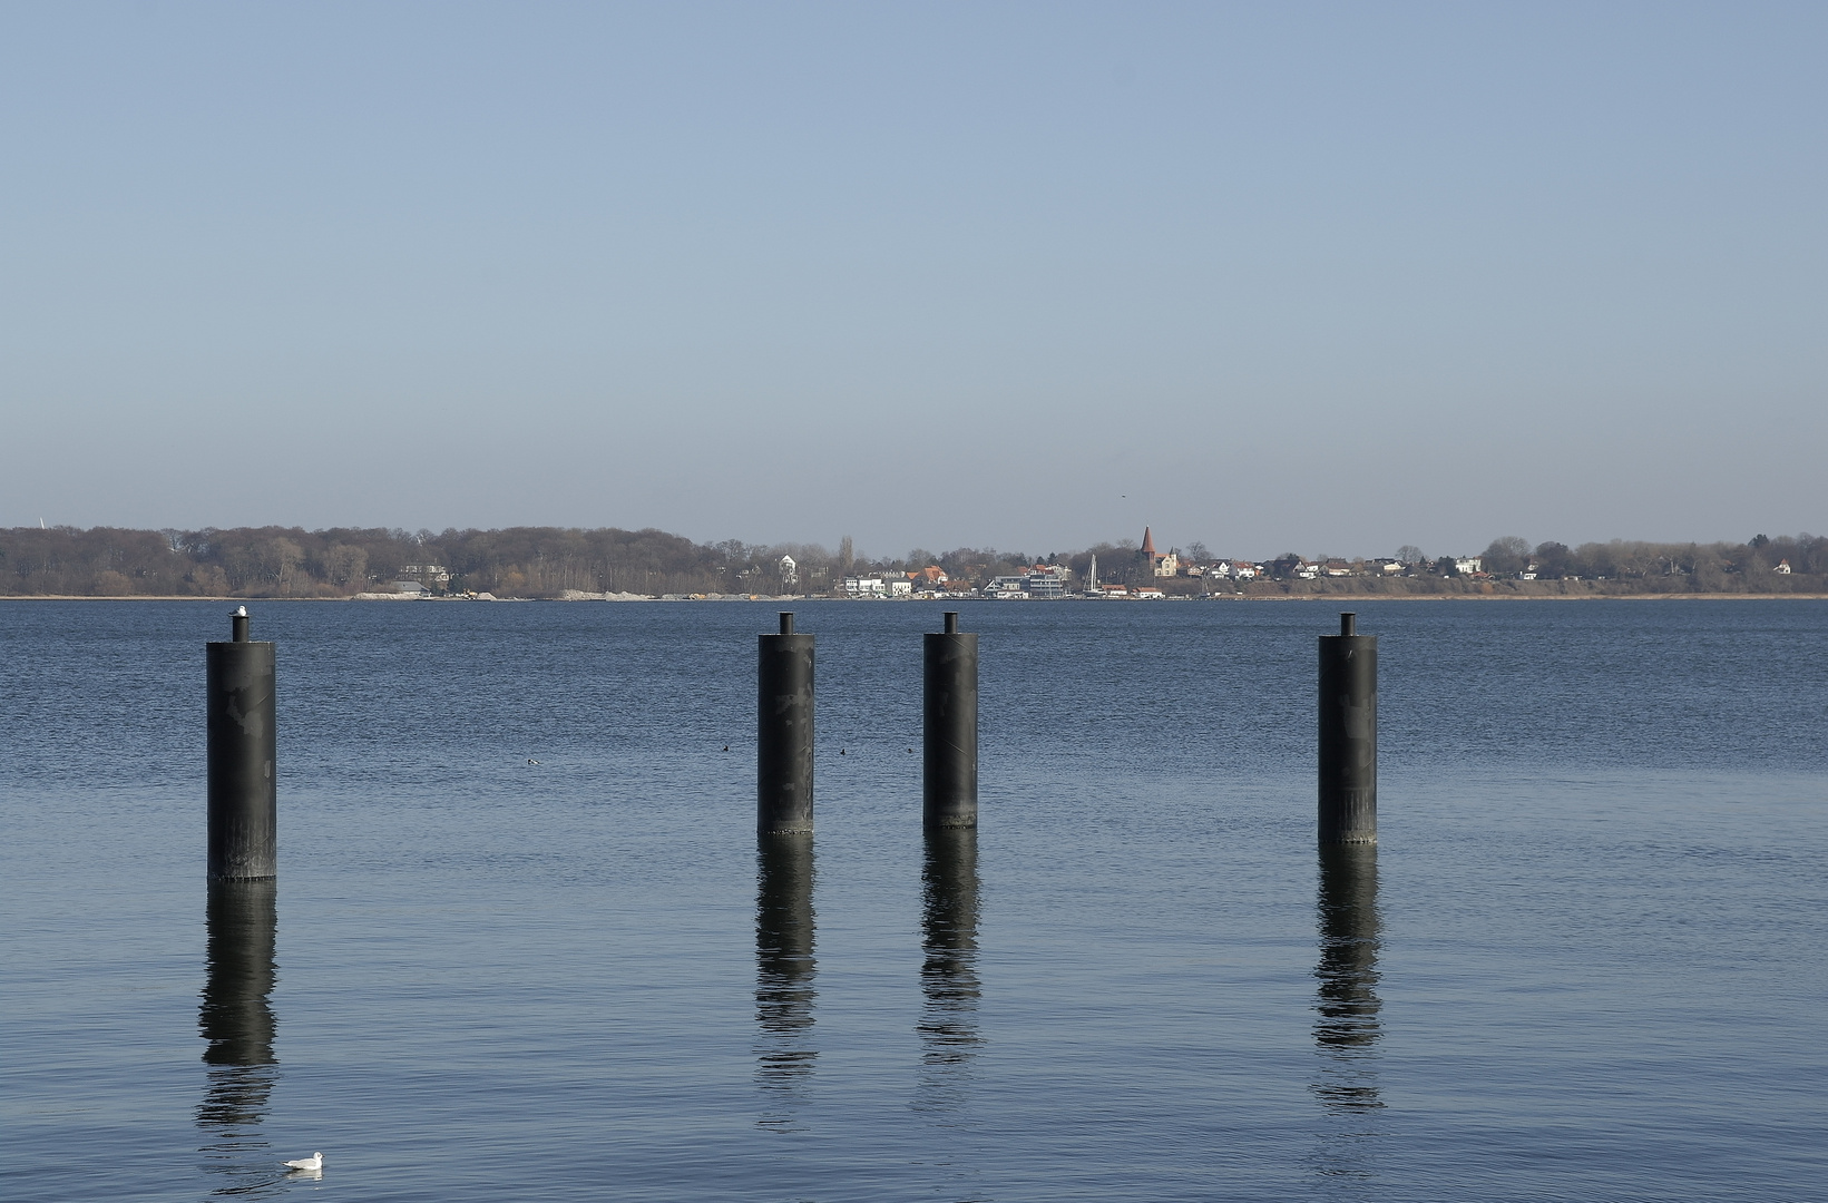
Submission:
[[[1157,554],[1095,543],[1077,552],[960,547],[870,559],[848,538],[817,545],[695,543],[664,530],[512,527],[506,530],[122,530],[0,528],[4,598],[318,598],[406,602],[737,602],[766,598],[951,600],[960,592],[1035,602],[1108,600],[1537,598],[1537,596],[1828,596],[1828,536],[1753,536],[1746,543],[1614,539],[1570,548],[1493,539],[1483,556],[1398,548],[1386,559],[1223,559],[1199,543]],[[1099,567],[1104,567],[1100,572]],[[1100,589],[1099,583],[1104,583]],[[1128,589],[1124,589],[1128,585]],[[13,592],[29,589],[31,592]],[[804,591],[804,592],[801,592]],[[1062,598],[1060,594],[1066,594]],[[1137,594],[1148,594],[1139,598]],[[1113,596],[1115,594],[1115,596]],[[1126,596],[1128,594],[1128,596]]]

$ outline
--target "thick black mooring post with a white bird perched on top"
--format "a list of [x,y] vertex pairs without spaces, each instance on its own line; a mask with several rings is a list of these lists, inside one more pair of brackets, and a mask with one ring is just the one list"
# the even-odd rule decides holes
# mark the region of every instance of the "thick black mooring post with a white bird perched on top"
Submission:
[[272,644],[247,638],[247,607],[228,644],[210,644],[208,695],[210,879],[260,881],[278,872]]

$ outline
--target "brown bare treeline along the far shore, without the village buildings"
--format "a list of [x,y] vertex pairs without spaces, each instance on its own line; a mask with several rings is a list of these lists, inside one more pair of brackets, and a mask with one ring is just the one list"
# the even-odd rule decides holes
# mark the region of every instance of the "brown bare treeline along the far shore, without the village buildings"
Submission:
[[[1208,559],[1194,543],[1188,558]],[[781,578],[781,558],[797,563],[799,583]],[[940,565],[952,580],[983,583],[1033,563],[1064,563],[1084,581],[1091,558],[1099,580],[1135,583],[1148,576],[1133,541],[1029,558],[1024,552],[962,547],[914,548],[870,558],[848,538],[835,552],[801,543],[693,543],[664,530],[512,527],[508,530],[386,530],[336,527],[238,527],[234,530],[122,530],[113,527],[15,527],[0,530],[0,594],[5,596],[197,596],[345,598],[422,580],[439,591],[497,598],[558,598],[567,591],[632,594],[826,594],[845,576],[905,572]],[[1168,592],[1247,596],[1378,592],[1404,594],[1632,594],[1632,592],[1828,592],[1828,538],[1755,536],[1746,543],[1530,543],[1493,539],[1486,576],[1455,576],[1451,558],[1400,548],[1402,574],[1265,580],[1216,587],[1199,578],[1152,580]],[[1270,563],[1294,563],[1292,552]],[[1313,559],[1327,559],[1314,556]],[[1790,574],[1779,572],[1788,563]],[[428,580],[428,565],[446,580]],[[1526,567],[1532,581],[1515,580]]]

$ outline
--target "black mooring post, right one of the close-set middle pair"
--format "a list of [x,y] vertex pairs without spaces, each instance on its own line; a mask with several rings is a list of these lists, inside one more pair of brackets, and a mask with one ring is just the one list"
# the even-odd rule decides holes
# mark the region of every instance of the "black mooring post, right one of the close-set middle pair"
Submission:
[[921,825],[978,825],[978,636],[958,629],[923,636]]

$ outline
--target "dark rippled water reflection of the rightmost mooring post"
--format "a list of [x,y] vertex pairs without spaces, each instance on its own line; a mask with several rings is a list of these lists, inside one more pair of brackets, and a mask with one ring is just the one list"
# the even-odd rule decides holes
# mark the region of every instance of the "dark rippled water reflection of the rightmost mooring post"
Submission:
[[1382,921],[1376,910],[1376,845],[1320,850],[1320,963],[1314,978],[1314,1046],[1320,1077],[1314,1097],[1334,1124],[1322,1172],[1366,1176],[1371,1121],[1384,1101],[1376,1084],[1376,1040],[1382,1035],[1376,996],[1376,954]]

